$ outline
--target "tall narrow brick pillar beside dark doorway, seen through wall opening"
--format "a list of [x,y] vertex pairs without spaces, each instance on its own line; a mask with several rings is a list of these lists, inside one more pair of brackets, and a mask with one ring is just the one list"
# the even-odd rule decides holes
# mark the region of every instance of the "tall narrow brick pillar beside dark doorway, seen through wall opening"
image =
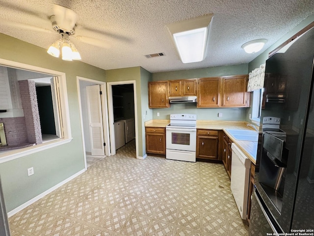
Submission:
[[43,143],[40,118],[37,105],[35,82],[32,80],[19,81],[22,107],[24,110],[27,140],[29,143]]

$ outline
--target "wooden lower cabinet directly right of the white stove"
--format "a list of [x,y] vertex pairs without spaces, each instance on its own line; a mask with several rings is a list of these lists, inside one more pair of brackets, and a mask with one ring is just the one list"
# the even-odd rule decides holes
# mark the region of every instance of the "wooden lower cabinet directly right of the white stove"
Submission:
[[217,130],[198,129],[196,158],[218,160],[219,136]]

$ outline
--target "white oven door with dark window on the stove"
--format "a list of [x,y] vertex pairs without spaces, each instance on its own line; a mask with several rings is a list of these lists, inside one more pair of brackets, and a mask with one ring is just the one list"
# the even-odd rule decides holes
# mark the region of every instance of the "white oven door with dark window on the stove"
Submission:
[[196,151],[196,129],[166,128],[166,148]]

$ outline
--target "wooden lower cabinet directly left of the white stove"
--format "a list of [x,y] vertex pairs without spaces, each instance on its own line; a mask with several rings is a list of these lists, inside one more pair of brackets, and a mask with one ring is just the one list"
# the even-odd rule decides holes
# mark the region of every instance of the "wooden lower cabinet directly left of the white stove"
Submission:
[[146,152],[166,154],[166,128],[145,127]]

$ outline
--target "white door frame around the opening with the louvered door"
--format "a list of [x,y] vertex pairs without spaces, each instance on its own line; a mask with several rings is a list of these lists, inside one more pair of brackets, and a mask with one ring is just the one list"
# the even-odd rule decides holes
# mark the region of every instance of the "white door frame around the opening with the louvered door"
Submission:
[[106,83],[98,80],[87,79],[84,77],[77,76],[77,86],[78,86],[78,104],[79,104],[79,118],[80,118],[80,127],[82,133],[82,145],[83,145],[83,155],[84,155],[84,163],[85,170],[87,170],[87,162],[86,162],[86,150],[85,150],[85,140],[84,140],[84,129],[83,129],[83,117],[82,117],[82,106],[81,106],[81,97],[80,97],[80,88],[79,81],[91,82],[95,85],[100,85],[101,91],[103,95],[102,99],[102,113],[103,113],[103,131],[104,131],[104,142],[105,146],[105,155],[110,156],[110,139],[109,139],[109,123],[108,123],[108,105],[107,105],[107,92],[106,92]]

